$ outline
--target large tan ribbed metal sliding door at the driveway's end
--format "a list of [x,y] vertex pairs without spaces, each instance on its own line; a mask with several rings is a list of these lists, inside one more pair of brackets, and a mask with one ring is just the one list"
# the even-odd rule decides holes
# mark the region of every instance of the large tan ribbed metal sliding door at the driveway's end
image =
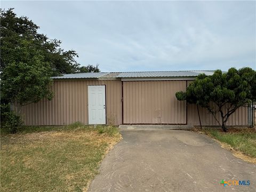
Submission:
[[186,81],[123,82],[124,124],[186,124],[186,102],[175,98]]

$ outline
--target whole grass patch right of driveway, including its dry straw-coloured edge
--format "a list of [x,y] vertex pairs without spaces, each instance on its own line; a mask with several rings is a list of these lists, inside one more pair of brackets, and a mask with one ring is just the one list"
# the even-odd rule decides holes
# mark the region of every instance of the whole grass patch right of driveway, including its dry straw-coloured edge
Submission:
[[256,131],[250,127],[231,127],[228,133],[215,127],[195,127],[192,131],[209,135],[220,143],[222,148],[230,150],[235,157],[256,164]]

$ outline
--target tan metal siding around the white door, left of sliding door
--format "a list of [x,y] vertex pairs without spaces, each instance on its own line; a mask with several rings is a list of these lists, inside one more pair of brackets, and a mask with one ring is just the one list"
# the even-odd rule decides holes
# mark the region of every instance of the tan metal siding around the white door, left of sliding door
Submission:
[[51,101],[43,99],[22,107],[26,125],[67,125],[74,122],[88,124],[87,85],[106,85],[107,124],[122,124],[121,81],[54,81],[55,95]]

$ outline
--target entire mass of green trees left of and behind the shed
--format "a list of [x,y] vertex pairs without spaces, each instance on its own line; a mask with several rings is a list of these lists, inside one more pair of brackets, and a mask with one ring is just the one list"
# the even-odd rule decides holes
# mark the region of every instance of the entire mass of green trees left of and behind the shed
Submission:
[[51,76],[81,70],[97,72],[99,68],[98,65],[80,68],[75,51],[63,50],[61,41],[38,33],[39,26],[27,17],[17,17],[13,9],[0,9],[0,16],[1,109],[4,110],[1,123],[9,122],[6,126],[17,130],[14,124],[20,124],[22,106],[53,97]]

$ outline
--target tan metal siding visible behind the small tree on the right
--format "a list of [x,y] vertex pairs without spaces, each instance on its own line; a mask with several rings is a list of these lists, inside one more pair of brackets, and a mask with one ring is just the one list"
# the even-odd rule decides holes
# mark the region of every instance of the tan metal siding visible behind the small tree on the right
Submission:
[[[188,81],[187,85],[191,83],[192,81]],[[188,125],[200,125],[197,108],[194,104],[187,104],[187,123]],[[216,121],[216,119],[213,117],[212,114],[210,114],[206,108],[199,107],[199,114],[201,117],[201,123],[202,125],[219,125],[219,123]],[[217,118],[218,121],[221,120],[221,117]],[[238,108],[234,114],[232,114],[228,121],[227,125],[233,126],[233,125],[248,125],[248,108],[247,107],[240,107]]]

